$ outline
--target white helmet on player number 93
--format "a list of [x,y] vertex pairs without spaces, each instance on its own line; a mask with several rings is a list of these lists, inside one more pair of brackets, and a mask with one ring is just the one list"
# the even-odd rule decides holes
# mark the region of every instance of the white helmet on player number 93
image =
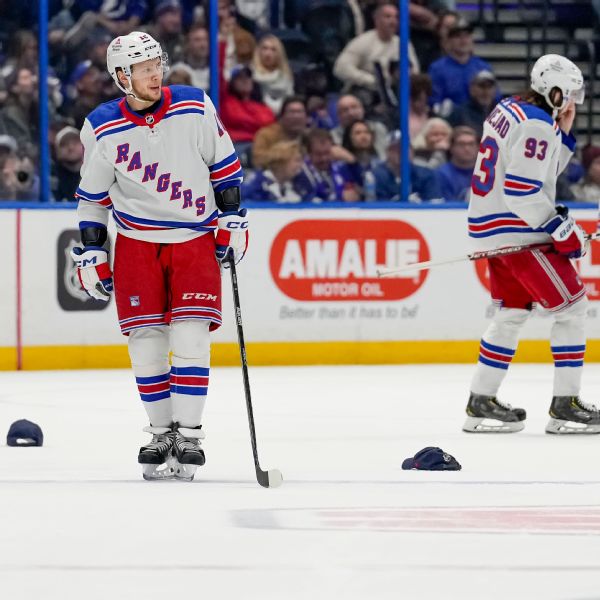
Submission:
[[[546,102],[555,110],[561,110],[571,100],[575,104],[583,104],[585,98],[581,70],[560,54],[545,54],[537,59],[531,70],[531,88],[544,96]],[[553,88],[562,92],[560,106],[556,106],[550,100]]]

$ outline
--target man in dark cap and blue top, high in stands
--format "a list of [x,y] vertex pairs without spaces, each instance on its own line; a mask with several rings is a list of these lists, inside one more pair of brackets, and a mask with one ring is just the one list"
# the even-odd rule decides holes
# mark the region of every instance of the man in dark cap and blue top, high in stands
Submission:
[[469,83],[480,71],[492,71],[490,65],[473,54],[473,26],[460,20],[448,30],[447,56],[429,67],[433,84],[431,104],[434,111],[445,116],[452,107],[469,99]]

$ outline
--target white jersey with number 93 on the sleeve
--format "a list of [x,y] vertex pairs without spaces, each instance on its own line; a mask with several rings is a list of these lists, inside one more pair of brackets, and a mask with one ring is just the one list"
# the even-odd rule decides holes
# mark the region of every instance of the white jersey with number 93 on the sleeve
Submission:
[[471,181],[469,237],[478,250],[550,241],[556,179],[575,149],[541,108],[506,98],[483,126]]

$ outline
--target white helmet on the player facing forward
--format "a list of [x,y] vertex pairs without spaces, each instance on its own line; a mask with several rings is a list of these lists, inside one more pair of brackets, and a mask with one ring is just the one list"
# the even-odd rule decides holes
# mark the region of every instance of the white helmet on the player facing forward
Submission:
[[[115,38],[106,50],[106,67],[117,87],[125,94],[133,96],[131,86],[131,66],[136,63],[160,58],[163,72],[168,69],[168,57],[162,51],[160,44],[149,34],[143,31],[132,31],[129,35],[121,35]],[[129,79],[129,87],[125,88],[119,81],[117,69]]]

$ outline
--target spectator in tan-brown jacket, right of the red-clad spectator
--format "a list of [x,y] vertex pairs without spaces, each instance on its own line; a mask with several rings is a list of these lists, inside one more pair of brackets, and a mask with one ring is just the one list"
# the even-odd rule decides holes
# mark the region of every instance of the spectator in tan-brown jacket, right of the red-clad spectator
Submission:
[[302,98],[290,96],[281,106],[276,123],[258,131],[252,144],[252,164],[255,168],[266,168],[270,148],[277,142],[301,141],[306,132],[307,114]]

